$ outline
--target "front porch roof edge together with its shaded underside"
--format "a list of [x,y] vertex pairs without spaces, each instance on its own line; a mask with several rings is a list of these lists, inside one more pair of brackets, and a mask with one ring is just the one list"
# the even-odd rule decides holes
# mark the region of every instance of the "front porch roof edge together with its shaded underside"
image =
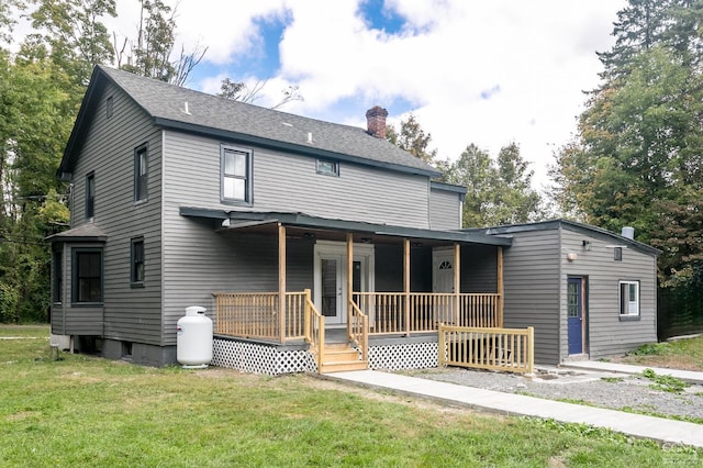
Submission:
[[426,245],[447,243],[510,246],[511,238],[491,236],[476,232],[434,231],[415,227],[392,226],[358,221],[331,220],[301,213],[243,212],[181,207],[180,214],[187,218],[220,220],[216,227],[237,232],[275,233],[280,223],[290,235],[301,237],[344,241],[346,233],[359,243],[393,243],[398,238],[411,238]]

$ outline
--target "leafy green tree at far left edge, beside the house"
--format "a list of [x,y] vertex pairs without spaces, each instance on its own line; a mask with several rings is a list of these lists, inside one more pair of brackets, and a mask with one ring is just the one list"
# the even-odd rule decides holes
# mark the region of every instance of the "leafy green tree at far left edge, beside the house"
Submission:
[[0,53],[0,321],[47,319],[43,239],[68,221],[54,172],[74,120],[71,88],[51,58],[12,62]]

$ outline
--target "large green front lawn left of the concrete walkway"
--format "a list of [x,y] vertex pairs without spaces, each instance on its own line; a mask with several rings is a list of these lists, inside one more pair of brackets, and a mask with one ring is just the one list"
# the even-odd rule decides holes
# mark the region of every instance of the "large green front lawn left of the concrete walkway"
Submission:
[[0,326],[3,467],[698,466],[703,452],[295,375],[49,358]]

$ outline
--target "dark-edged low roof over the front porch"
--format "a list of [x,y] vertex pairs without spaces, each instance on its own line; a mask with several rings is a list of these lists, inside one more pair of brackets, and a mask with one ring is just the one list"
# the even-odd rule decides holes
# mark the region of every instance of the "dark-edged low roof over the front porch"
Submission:
[[[264,226],[269,224],[281,224],[292,227],[350,232],[379,237],[402,237],[417,241],[496,246],[510,246],[512,244],[512,239],[510,238],[491,236],[482,233],[461,231],[435,231],[416,227],[394,226],[388,224],[373,224],[359,221],[332,220],[327,218],[311,216],[302,213],[225,211],[181,207],[180,214],[187,218],[220,220],[220,226],[231,230],[252,226]],[[222,223],[224,223],[224,225]]]

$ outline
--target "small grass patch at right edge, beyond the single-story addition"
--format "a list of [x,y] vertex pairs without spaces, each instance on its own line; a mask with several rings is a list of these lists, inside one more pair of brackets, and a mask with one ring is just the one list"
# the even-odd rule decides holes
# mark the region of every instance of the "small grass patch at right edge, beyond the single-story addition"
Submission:
[[703,371],[703,336],[646,344],[628,353],[620,361],[646,367]]

